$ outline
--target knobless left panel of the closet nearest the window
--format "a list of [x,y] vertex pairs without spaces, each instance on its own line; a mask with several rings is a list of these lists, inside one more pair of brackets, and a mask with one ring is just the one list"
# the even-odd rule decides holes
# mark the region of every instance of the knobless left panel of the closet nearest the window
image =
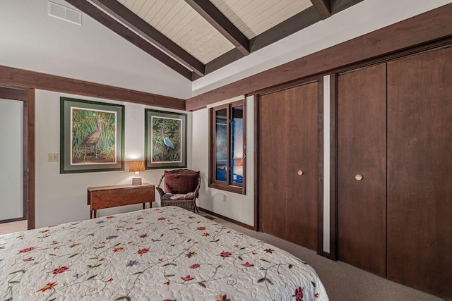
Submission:
[[285,238],[287,135],[285,92],[259,99],[259,211],[261,231]]

